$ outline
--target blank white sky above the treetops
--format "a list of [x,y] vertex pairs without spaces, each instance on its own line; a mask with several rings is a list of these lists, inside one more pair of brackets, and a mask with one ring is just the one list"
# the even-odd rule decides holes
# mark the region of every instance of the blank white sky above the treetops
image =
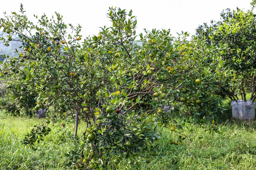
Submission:
[[223,9],[244,8],[249,10],[251,0],[1,0],[0,17],[3,12],[18,12],[20,3],[27,11],[28,18],[34,20],[33,14],[40,17],[44,13],[50,17],[55,11],[64,16],[66,24],[82,26],[82,35],[99,33],[103,26],[111,26],[106,14],[109,7],[132,9],[137,16],[137,34],[143,29],[171,29],[171,33],[195,29],[204,22],[219,20]]

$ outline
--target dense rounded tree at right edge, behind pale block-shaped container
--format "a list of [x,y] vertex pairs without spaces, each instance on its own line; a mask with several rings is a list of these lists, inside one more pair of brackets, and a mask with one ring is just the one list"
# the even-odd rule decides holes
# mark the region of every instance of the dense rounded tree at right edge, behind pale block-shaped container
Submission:
[[231,70],[231,74],[219,80],[219,91],[231,100],[244,101],[246,93],[251,93],[250,100],[256,99],[256,15],[241,9],[227,9],[221,13],[221,20],[211,25],[200,26],[197,37],[204,40],[209,55],[216,55],[223,65],[220,72]]

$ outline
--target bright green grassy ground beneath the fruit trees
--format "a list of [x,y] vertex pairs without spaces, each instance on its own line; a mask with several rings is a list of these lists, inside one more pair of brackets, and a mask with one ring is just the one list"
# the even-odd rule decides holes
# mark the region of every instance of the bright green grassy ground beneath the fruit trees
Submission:
[[[65,153],[74,150],[73,124],[50,124],[52,131],[33,151],[21,144],[29,129],[40,119],[10,117],[0,113],[0,170],[70,170]],[[82,135],[80,125],[79,135]],[[163,150],[151,162],[127,165],[127,161],[108,170],[256,170],[256,123],[225,122],[219,124],[218,133],[205,131],[200,125],[187,124],[189,131],[181,145],[168,143],[173,132],[159,131],[163,136],[158,142]],[[199,139],[198,136],[203,138]]]

